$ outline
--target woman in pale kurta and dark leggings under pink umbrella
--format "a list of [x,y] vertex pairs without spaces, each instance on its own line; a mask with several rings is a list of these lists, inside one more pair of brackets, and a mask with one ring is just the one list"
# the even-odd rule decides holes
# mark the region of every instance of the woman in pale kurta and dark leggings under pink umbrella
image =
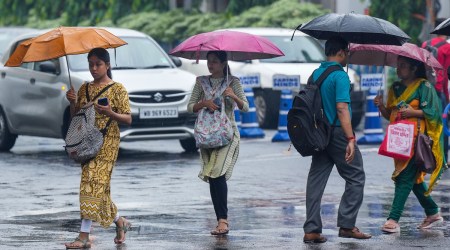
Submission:
[[234,135],[232,141],[220,148],[201,148],[200,160],[202,168],[198,177],[209,182],[211,199],[216,213],[217,227],[211,231],[213,235],[227,234],[228,227],[228,207],[227,180],[230,179],[234,164],[239,155],[239,131],[234,119],[234,108],[237,106],[241,111],[248,111],[248,102],[239,78],[231,76],[227,54],[223,51],[210,51],[207,54],[208,70],[210,76],[200,76],[192,91],[191,99],[188,104],[189,112],[198,112],[200,109],[214,111],[219,106],[214,100],[205,100],[205,93],[202,88],[202,81],[210,84],[213,90],[218,90],[223,84],[229,86],[221,96],[221,103],[225,103],[225,113],[233,124]]

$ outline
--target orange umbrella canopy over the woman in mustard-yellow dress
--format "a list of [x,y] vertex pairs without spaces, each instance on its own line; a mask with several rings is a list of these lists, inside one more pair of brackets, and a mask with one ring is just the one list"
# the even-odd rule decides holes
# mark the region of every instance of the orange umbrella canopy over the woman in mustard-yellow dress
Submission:
[[93,48],[116,48],[127,44],[105,29],[93,27],[59,27],[17,46],[5,66],[38,62],[65,55],[88,53]]

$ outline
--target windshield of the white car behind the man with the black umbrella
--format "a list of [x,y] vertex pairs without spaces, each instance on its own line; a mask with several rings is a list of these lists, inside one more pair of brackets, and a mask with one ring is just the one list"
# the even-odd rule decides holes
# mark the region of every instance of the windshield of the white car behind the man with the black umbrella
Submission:
[[273,42],[285,56],[263,59],[266,63],[319,63],[325,61],[322,47],[309,36],[265,36]]

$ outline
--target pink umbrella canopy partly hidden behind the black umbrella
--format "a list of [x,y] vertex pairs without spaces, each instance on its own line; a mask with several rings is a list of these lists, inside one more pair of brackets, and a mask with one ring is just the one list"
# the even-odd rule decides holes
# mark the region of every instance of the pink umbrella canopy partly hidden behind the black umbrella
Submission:
[[399,55],[421,61],[428,68],[443,69],[442,65],[428,50],[412,43],[405,43],[402,46],[350,44],[348,63],[397,67]]

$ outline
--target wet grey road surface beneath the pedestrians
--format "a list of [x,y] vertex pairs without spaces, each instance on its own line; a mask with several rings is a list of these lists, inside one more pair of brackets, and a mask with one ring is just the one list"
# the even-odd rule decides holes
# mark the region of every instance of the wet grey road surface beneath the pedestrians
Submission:
[[[328,242],[305,245],[305,188],[310,158],[289,143],[243,140],[229,181],[226,237],[214,237],[215,215],[208,185],[200,179],[197,154],[185,154],[177,141],[122,143],[112,178],[112,198],[133,223],[126,244],[116,247],[115,228],[96,225],[92,249],[449,249],[449,228],[418,230],[423,211],[411,195],[400,221],[401,233],[384,235],[381,225],[393,198],[392,160],[376,146],[360,146],[366,170],[364,203],[357,226],[374,237],[338,238],[336,213],[344,181],[333,170],[322,200]],[[20,137],[12,153],[0,153],[0,249],[64,249],[79,229],[79,165],[61,140]],[[450,174],[433,192],[450,220]]]

